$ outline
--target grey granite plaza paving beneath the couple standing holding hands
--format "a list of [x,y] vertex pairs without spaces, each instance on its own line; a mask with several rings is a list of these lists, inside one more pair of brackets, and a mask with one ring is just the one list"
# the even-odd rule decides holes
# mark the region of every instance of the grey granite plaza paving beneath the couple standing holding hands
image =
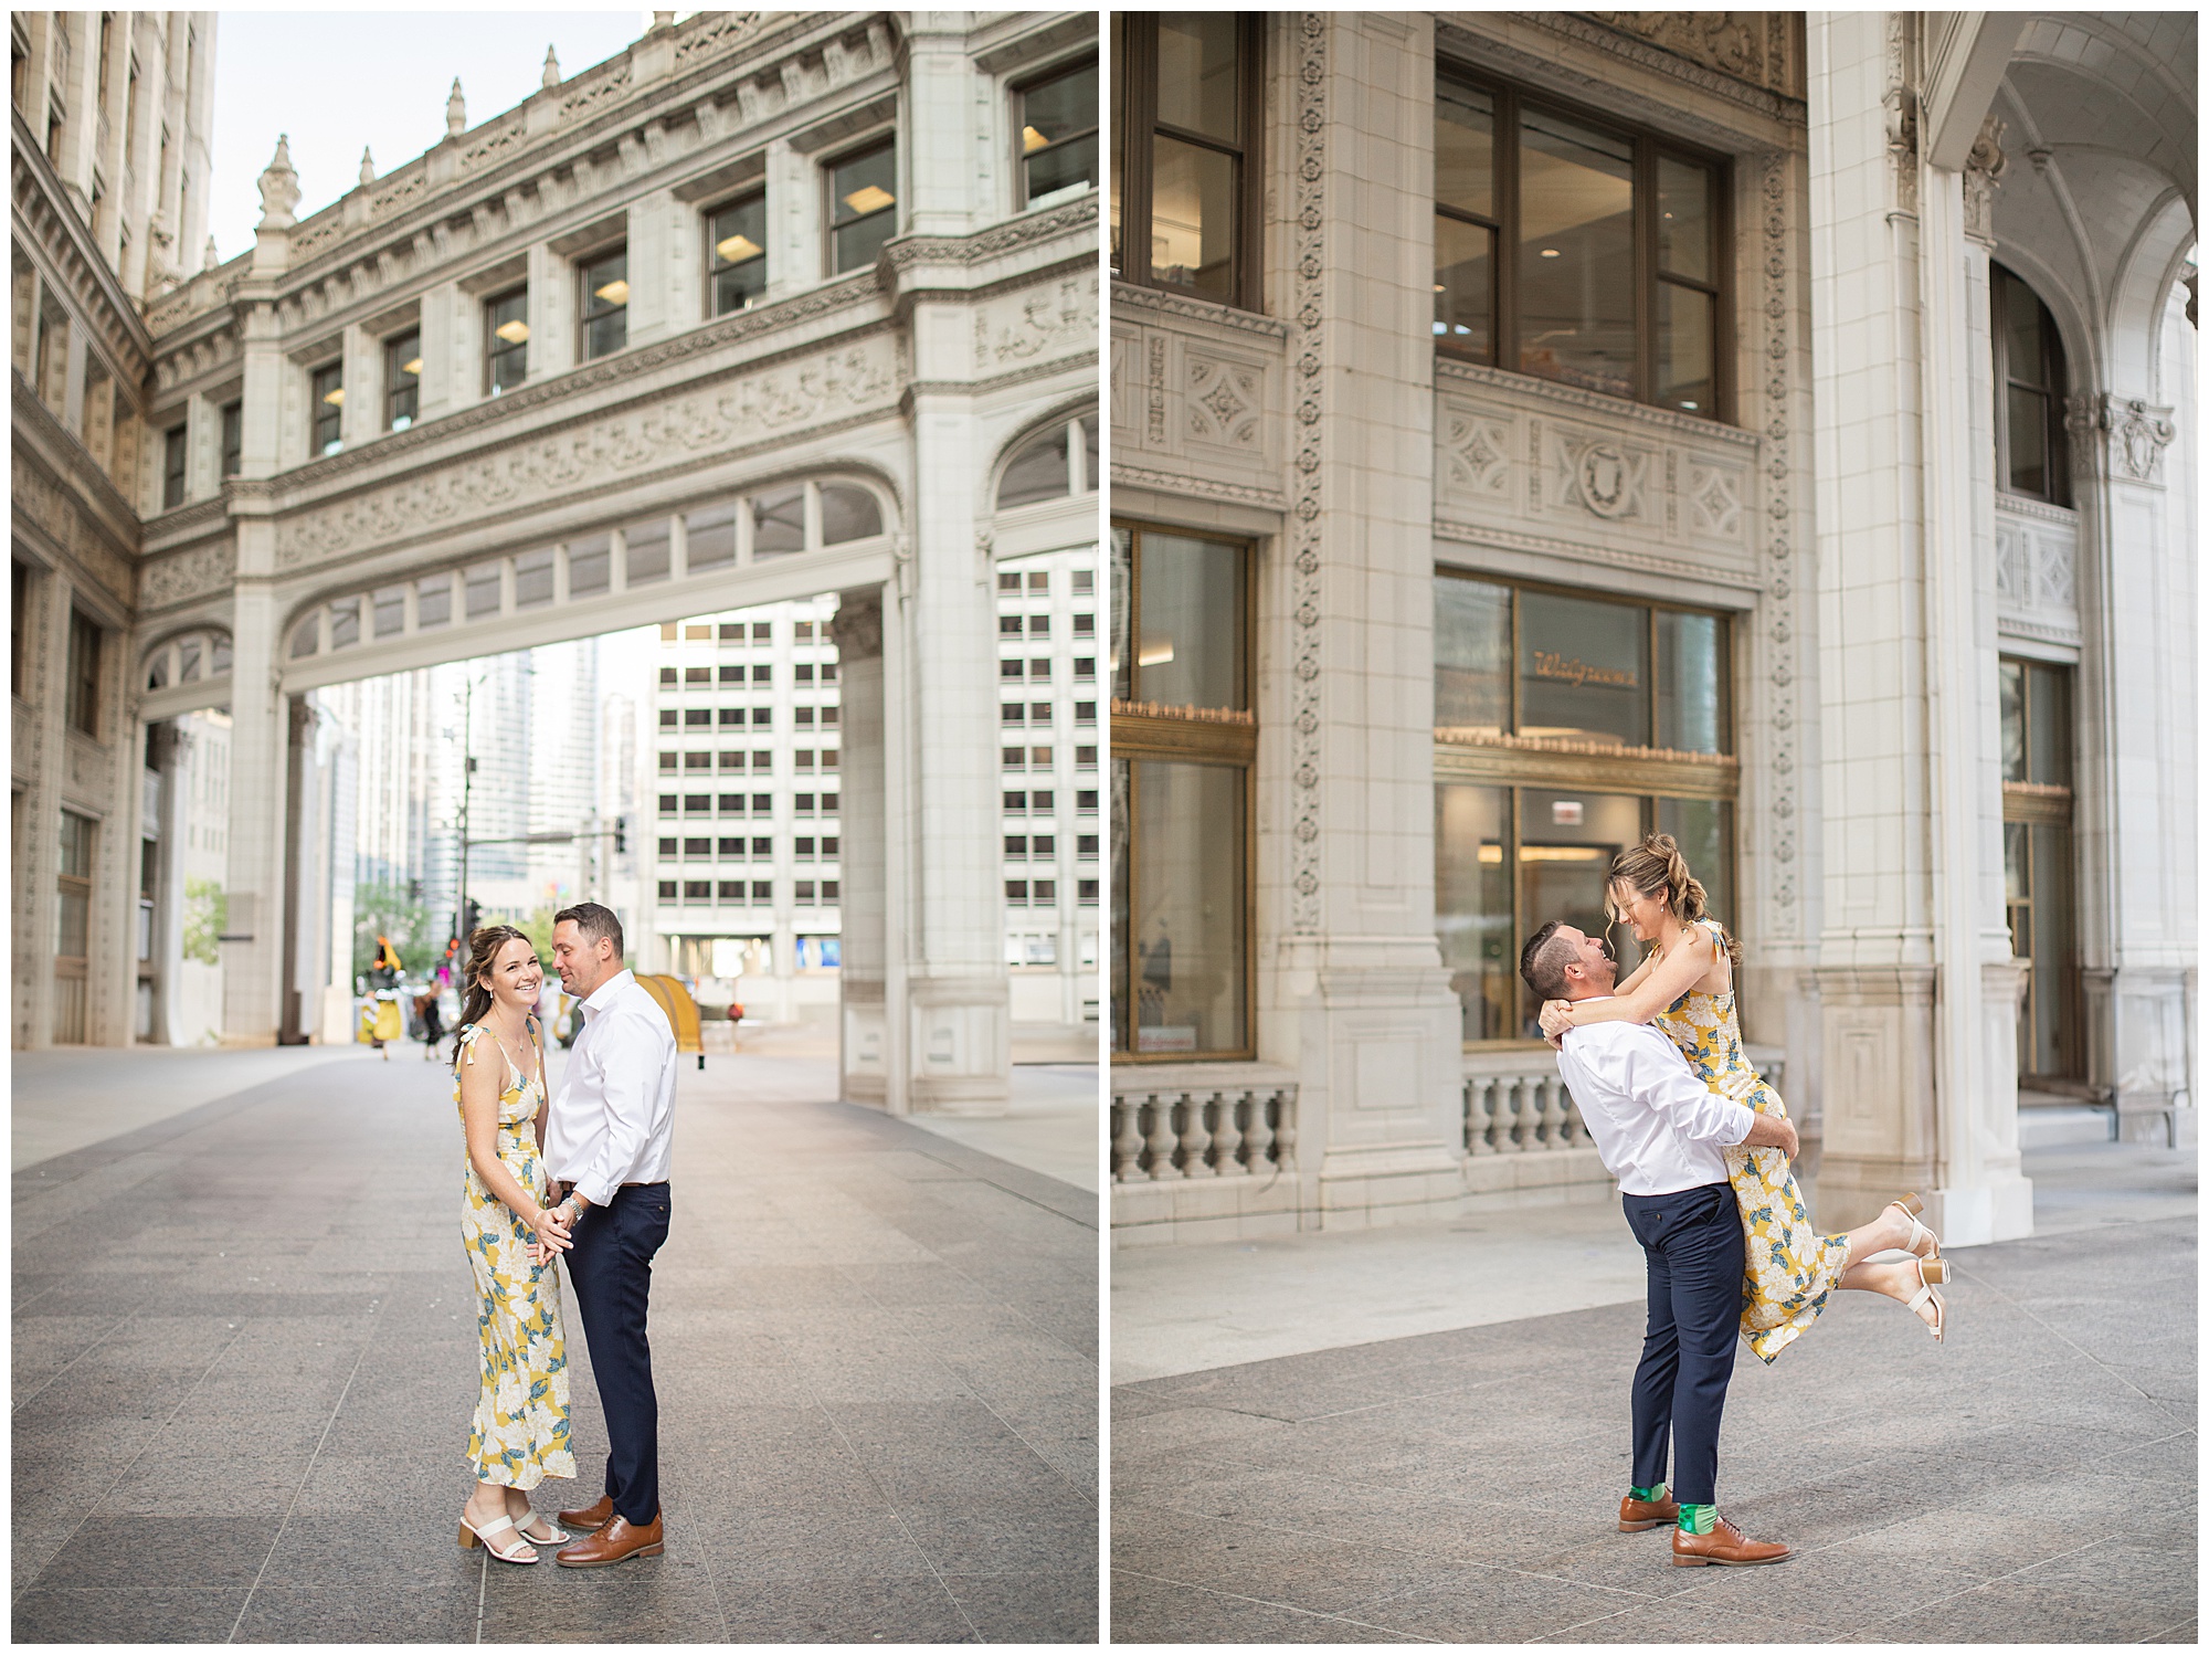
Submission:
[[[455,1545],[475,1297],[418,1047],[20,1169],[15,1640],[1093,1640],[1096,1198],[822,1076],[685,1058],[667,1556],[603,1571]],[[543,1511],[605,1452],[566,1308],[581,1478]]]

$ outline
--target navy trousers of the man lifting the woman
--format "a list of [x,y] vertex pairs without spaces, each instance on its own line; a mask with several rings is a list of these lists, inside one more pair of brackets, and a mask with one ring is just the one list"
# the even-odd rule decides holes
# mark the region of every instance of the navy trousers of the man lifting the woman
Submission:
[[1719,1421],[1741,1328],[1741,1206],[1732,1184],[1619,1202],[1650,1268],[1650,1321],[1635,1368],[1635,1487],[1666,1480],[1670,1436],[1672,1498],[1716,1505]]

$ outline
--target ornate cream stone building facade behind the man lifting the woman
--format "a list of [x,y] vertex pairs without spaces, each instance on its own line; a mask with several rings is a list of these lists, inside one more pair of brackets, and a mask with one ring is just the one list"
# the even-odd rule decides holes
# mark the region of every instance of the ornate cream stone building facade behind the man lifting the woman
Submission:
[[2189,1131],[2191,18],[1116,44],[1118,1240],[1599,1184],[1518,944],[1650,829],[1820,1220]]

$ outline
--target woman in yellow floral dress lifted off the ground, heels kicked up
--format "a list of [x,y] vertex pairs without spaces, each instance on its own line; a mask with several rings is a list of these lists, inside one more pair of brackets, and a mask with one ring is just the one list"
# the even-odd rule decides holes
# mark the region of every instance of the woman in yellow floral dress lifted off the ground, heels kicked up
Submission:
[[[1681,1050],[1712,1089],[1767,1116],[1787,1118],[1778,1094],[1741,1050],[1734,1014],[1734,966],[1741,948],[1703,913],[1703,886],[1688,871],[1670,833],[1652,833],[1610,864],[1610,910],[1646,946],[1641,963],[1610,999],[1549,1001],[1542,1032],[1560,1039],[1579,1023],[1650,1023]],[[1940,1339],[1946,1304],[1935,1290],[1948,1279],[1940,1237],[1917,1222],[1915,1195],[1889,1202],[1853,1231],[1818,1233],[1778,1149],[1727,1149],[1725,1171],[1741,1204],[1747,1264],[1741,1284],[1741,1337],[1763,1361],[1794,1343],[1833,1288],[1862,1288],[1900,1299]],[[1875,1253],[1904,1253],[1875,1259]]]

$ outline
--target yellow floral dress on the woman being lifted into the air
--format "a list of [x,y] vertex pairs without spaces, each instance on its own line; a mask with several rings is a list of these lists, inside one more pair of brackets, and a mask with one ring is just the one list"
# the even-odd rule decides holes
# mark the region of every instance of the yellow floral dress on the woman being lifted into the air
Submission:
[[[1710,937],[1719,948],[1725,946],[1716,924],[1710,926]],[[1657,1027],[1712,1092],[1756,1114],[1787,1118],[1780,1094],[1765,1085],[1741,1050],[1734,990],[1688,990],[1657,1014]],[[1811,1229],[1794,1169],[1778,1149],[1727,1149],[1725,1176],[1734,1184],[1747,1242],[1741,1337],[1769,1363],[1825,1310],[1840,1273],[1849,1268],[1849,1237]]]

